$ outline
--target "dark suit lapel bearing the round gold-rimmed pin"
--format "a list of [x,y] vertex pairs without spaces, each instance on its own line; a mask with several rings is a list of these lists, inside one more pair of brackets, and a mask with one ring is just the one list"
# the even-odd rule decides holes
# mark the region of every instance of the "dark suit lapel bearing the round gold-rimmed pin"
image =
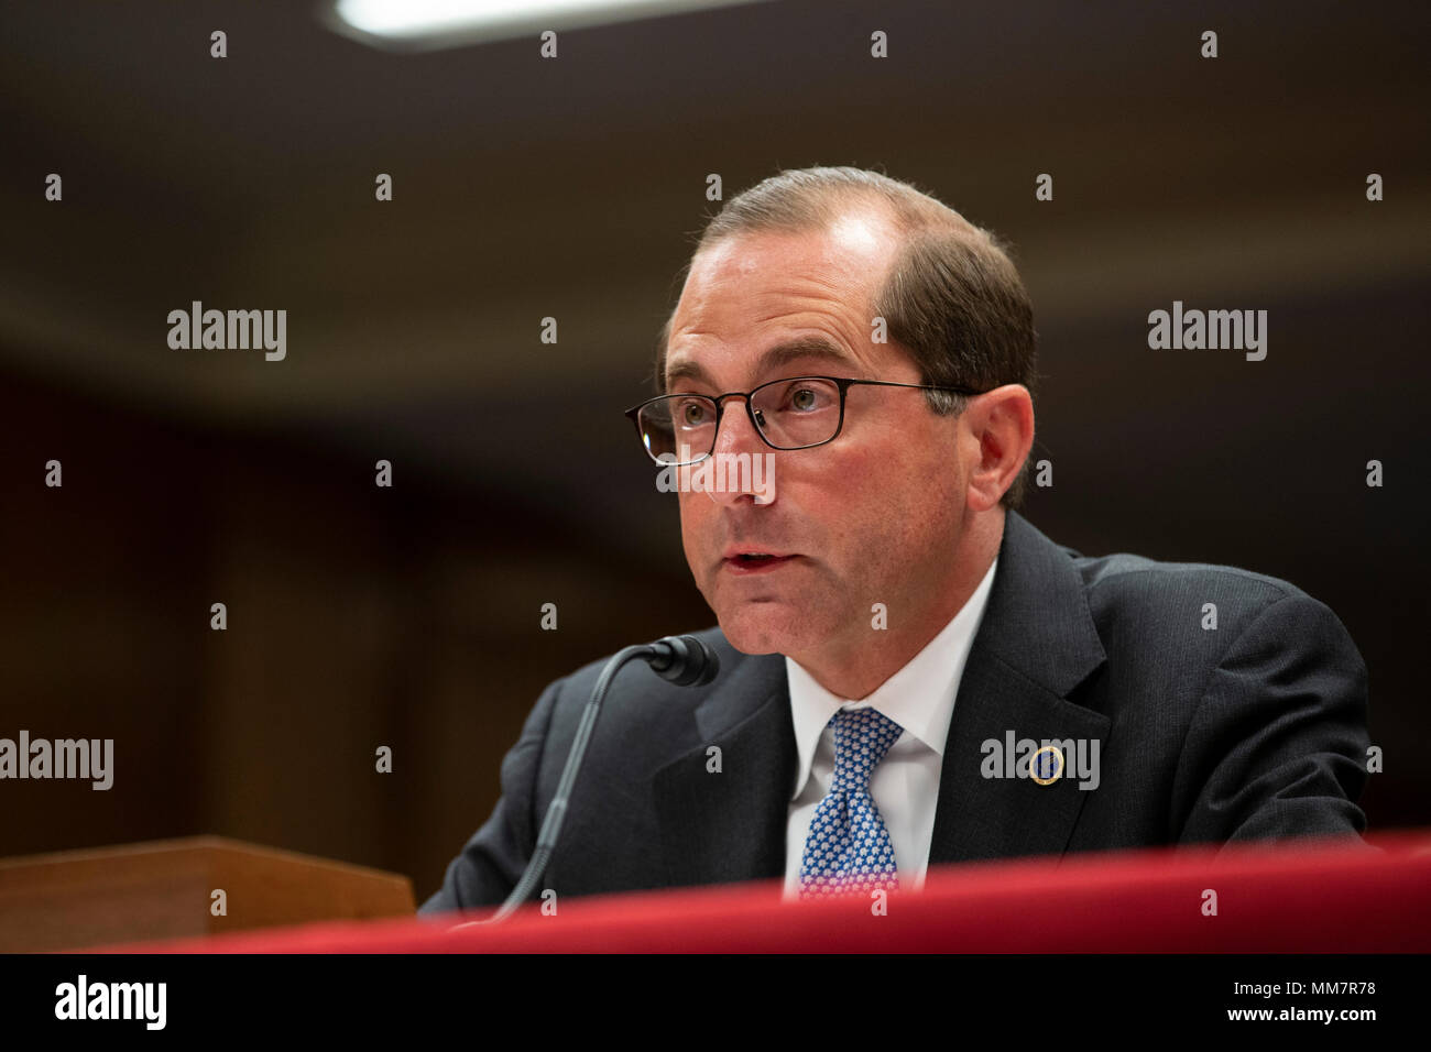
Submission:
[[986,741],[1098,739],[1106,716],[1068,694],[1106,660],[1083,581],[1017,512],[1005,518],[989,605],[959,683],[944,744],[930,865],[1062,854],[1083,806],[1078,779],[983,777]]

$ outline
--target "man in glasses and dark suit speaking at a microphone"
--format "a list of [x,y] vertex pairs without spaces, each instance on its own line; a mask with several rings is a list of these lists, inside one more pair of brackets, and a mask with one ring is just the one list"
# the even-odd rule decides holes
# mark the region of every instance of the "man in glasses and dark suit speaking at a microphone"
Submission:
[[[1015,510],[1035,335],[987,232],[880,175],[783,172],[711,220],[658,355],[663,396],[631,411],[651,458],[771,471],[680,494],[721,673],[618,676],[539,887],[864,895],[947,862],[1365,827],[1367,670],[1331,610],[1088,558]],[[537,701],[424,913],[512,889],[601,664]]]

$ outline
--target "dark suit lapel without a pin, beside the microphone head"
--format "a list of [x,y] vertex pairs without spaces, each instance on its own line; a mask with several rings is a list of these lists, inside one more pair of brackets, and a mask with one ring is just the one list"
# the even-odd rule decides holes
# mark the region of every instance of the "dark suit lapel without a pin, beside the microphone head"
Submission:
[[[786,663],[740,657],[730,678],[694,713],[697,744],[655,773],[654,794],[671,885],[777,877],[786,869],[787,804],[794,794],[796,733]],[[707,749],[721,770],[707,769]]]

